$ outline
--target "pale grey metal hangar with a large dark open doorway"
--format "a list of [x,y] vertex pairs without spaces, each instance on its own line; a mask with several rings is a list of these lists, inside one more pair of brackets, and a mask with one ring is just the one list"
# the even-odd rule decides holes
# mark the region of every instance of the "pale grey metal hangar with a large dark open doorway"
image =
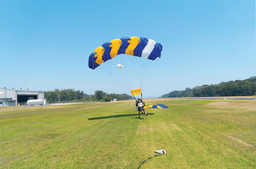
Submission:
[[44,99],[45,93],[35,90],[0,88],[0,106],[17,106],[29,99]]

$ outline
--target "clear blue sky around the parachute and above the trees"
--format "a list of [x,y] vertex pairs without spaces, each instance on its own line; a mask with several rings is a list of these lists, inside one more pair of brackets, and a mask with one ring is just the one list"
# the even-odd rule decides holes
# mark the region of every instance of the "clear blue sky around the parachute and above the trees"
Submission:
[[1,0],[0,88],[125,93],[88,57],[131,36],[163,45],[144,96],[256,76],[255,0]]

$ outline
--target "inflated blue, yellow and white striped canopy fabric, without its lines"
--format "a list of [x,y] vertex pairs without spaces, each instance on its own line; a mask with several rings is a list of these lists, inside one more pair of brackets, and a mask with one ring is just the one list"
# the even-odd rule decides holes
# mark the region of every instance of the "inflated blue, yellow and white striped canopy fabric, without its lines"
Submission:
[[114,39],[111,42],[102,44],[91,53],[89,56],[89,68],[95,69],[119,54],[155,60],[157,57],[161,57],[162,49],[162,45],[152,39],[138,38],[136,36]]

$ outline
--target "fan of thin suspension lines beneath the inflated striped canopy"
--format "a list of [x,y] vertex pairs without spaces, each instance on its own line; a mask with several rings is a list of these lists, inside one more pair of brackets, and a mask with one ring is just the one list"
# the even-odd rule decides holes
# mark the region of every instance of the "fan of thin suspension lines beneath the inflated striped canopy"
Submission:
[[[98,67],[96,70],[97,72],[101,73],[101,75],[109,79],[111,82],[113,82],[114,79],[116,83],[113,83],[117,84],[127,93],[130,93],[130,90],[132,90],[131,87],[134,88],[134,83],[138,84],[141,89],[145,89],[147,83],[150,81],[150,78],[148,77],[150,77],[151,73],[154,71],[159,61],[159,59],[157,61],[153,61],[150,59],[127,54],[119,54],[117,57],[114,57],[111,60],[112,61],[106,61],[102,63],[101,66]],[[124,68],[118,68],[118,64],[122,64]],[[135,71],[132,74],[129,72],[130,70],[132,70],[129,69],[130,65],[132,65],[132,68]],[[136,100],[135,96],[133,96],[133,98]]]

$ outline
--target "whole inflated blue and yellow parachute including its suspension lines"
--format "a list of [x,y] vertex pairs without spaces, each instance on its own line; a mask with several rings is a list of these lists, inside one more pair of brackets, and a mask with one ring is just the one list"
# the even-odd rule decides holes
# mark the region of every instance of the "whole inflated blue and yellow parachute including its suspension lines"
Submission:
[[[154,75],[163,47],[152,39],[137,36],[103,43],[89,56],[89,68],[99,72],[126,93],[143,89]],[[141,94],[134,89],[133,96]],[[141,94],[142,97],[142,94]],[[135,98],[135,97],[134,97]]]

